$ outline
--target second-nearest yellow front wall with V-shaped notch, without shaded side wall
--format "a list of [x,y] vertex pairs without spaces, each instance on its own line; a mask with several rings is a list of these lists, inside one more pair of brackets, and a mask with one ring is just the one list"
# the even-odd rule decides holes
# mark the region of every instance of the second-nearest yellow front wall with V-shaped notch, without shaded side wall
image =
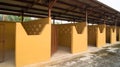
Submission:
[[72,53],[78,53],[87,50],[87,24],[81,22],[73,25],[72,34]]

